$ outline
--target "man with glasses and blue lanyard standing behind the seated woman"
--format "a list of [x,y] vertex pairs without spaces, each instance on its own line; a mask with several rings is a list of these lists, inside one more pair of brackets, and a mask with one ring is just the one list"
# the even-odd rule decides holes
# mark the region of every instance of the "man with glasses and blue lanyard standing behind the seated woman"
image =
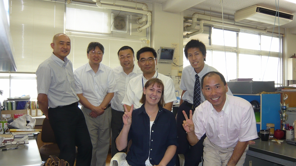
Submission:
[[143,74],[131,79],[128,83],[126,95],[121,103],[126,104],[128,110],[131,109],[131,105],[133,105],[133,109],[141,107],[142,103],[140,103],[140,99],[143,94],[144,85],[151,78],[160,79],[165,86],[165,106],[163,108],[172,110],[173,102],[177,102],[173,80],[170,77],[156,71],[156,58],[157,54],[155,49],[150,47],[143,47],[137,52],[138,65],[143,71]]

